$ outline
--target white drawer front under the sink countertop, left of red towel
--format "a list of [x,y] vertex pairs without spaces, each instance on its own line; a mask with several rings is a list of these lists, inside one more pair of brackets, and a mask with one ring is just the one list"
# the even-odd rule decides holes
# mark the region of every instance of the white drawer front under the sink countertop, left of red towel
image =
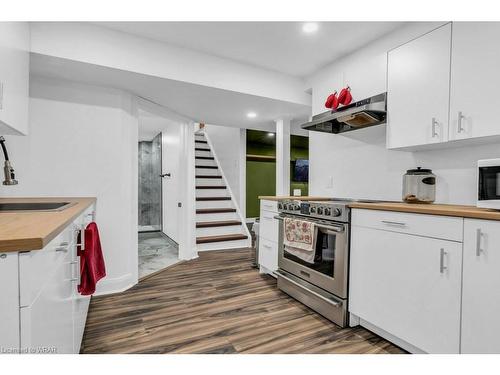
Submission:
[[75,227],[70,225],[42,250],[19,254],[21,307],[34,301],[59,264],[76,258],[75,240]]

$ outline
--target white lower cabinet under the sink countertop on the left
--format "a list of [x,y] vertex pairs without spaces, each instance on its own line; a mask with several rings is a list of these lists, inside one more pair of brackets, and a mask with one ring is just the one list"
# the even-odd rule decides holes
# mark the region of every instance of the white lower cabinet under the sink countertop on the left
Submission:
[[[93,207],[41,250],[0,253],[0,350],[79,353],[90,296],[78,293],[77,233]],[[2,351],[0,351],[1,353]]]

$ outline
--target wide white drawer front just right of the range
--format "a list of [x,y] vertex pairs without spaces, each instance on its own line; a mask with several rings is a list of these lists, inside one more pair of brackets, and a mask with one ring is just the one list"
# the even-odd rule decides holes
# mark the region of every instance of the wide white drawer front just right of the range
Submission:
[[406,212],[352,210],[352,225],[417,236],[463,241],[463,218]]

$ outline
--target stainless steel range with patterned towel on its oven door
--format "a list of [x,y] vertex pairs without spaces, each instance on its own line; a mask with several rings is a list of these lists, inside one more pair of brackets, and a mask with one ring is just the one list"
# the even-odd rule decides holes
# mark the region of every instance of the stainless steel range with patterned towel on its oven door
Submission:
[[[347,199],[278,203],[281,220],[278,288],[341,327],[347,325],[350,209]],[[284,245],[285,221],[314,224],[314,255],[304,260]]]

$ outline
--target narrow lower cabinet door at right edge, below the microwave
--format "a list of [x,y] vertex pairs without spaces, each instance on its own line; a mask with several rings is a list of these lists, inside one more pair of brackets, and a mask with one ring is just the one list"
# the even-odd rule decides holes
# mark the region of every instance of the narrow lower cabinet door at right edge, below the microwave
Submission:
[[462,353],[500,353],[500,222],[466,219]]

